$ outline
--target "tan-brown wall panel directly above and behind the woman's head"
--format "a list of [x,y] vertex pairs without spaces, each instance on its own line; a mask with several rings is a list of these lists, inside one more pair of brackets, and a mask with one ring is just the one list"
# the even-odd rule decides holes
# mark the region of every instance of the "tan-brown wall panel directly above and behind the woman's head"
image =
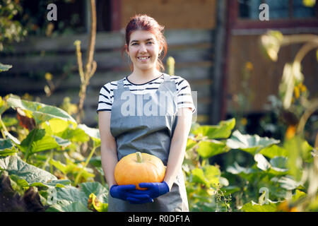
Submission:
[[122,0],[122,28],[137,13],[148,14],[167,29],[216,26],[216,0]]

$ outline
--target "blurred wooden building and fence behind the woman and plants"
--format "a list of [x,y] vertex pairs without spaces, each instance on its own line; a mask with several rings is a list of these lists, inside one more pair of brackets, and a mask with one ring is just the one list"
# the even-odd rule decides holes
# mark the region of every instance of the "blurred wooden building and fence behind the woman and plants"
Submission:
[[[130,73],[121,52],[124,27],[134,14],[146,13],[165,26],[168,52],[164,63],[167,57],[174,57],[175,75],[186,78],[197,91],[199,124],[235,117],[242,132],[282,138],[295,115],[278,112],[278,87],[284,64],[293,60],[302,44],[281,47],[277,61],[271,61],[261,52],[259,38],[268,30],[283,35],[317,34],[317,3],[306,2],[310,1],[96,0],[97,70],[87,86],[83,123],[97,126],[100,88]],[[88,1],[0,3],[0,62],[13,66],[0,74],[0,96],[13,93],[67,108],[72,114],[81,85],[73,43],[81,40],[85,59],[90,31]],[[56,21],[47,20],[51,3],[57,6]],[[268,21],[259,20],[263,3],[269,6]],[[302,60],[302,90],[311,97],[317,97],[317,71],[316,52],[311,51]],[[278,122],[282,115],[283,124]],[[317,123],[317,114],[310,120]],[[314,133],[308,137],[313,143]]]

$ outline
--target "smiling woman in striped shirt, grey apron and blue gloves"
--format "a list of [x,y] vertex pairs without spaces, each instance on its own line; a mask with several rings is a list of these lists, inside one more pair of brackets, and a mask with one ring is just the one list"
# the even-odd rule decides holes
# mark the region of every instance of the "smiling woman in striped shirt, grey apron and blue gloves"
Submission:
[[[102,169],[110,187],[108,210],[189,211],[182,174],[196,110],[189,83],[161,72],[164,67],[159,57],[165,57],[167,42],[163,26],[153,18],[131,18],[125,41],[132,73],[105,84],[98,102]],[[141,183],[146,188],[143,191],[131,184],[116,184],[115,165],[136,151],[163,161],[167,168],[162,183]]]

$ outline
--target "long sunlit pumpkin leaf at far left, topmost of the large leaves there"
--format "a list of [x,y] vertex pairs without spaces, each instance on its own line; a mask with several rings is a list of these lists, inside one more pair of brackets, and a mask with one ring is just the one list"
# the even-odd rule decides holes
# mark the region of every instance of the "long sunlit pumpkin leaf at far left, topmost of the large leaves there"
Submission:
[[64,121],[69,121],[76,127],[75,119],[59,107],[45,105],[40,102],[21,100],[20,97],[16,95],[10,95],[7,102],[8,105],[14,109],[23,109],[28,117],[33,117],[35,119],[36,124],[42,124],[50,119],[62,119]]

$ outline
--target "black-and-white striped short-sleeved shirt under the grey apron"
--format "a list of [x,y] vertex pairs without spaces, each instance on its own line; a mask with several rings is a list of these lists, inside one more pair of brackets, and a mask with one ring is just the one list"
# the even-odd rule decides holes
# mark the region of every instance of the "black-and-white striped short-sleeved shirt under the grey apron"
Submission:
[[[194,106],[194,102],[192,100],[191,88],[188,81],[180,76],[170,76],[170,80],[175,81],[175,85],[177,87],[177,107],[190,107],[192,109],[192,113],[194,113],[196,111],[196,107]],[[124,87],[128,87],[131,93],[137,95],[155,93],[163,81],[163,75],[143,84],[131,83],[127,76],[123,80]],[[117,89],[117,81],[112,81],[102,86],[98,99],[97,112],[112,110],[112,102],[114,101],[113,91],[115,89]]]

